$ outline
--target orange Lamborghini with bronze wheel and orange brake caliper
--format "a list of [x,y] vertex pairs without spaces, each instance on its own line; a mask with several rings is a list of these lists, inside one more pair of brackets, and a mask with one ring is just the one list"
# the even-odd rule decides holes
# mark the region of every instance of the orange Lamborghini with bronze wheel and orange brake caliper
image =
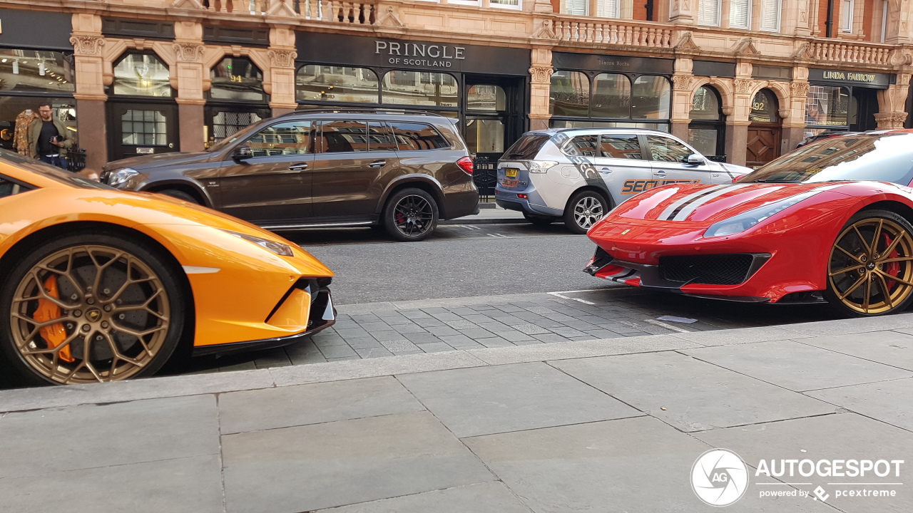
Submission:
[[332,276],[257,226],[0,150],[0,367],[26,382],[299,340],[335,322]]

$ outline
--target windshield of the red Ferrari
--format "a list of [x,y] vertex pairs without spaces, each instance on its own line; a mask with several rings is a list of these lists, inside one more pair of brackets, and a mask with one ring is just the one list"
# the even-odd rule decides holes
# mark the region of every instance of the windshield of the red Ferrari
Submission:
[[739,183],[874,180],[909,185],[913,133],[862,133],[816,141],[761,166]]

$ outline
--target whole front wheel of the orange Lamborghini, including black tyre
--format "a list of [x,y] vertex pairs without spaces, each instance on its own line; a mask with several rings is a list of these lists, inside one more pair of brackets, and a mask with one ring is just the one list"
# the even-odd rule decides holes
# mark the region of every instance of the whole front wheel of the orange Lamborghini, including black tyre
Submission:
[[156,248],[82,233],[38,246],[0,290],[0,352],[33,384],[148,376],[171,357],[184,298]]

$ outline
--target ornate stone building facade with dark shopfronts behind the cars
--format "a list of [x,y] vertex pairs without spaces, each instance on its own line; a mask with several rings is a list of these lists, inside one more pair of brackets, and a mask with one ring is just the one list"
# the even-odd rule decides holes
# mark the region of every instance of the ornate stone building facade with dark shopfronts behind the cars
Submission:
[[[0,144],[49,102],[89,166],[296,109],[430,110],[495,158],[649,127],[759,165],[908,126],[910,0],[0,0]],[[46,83],[47,82],[47,83]]]

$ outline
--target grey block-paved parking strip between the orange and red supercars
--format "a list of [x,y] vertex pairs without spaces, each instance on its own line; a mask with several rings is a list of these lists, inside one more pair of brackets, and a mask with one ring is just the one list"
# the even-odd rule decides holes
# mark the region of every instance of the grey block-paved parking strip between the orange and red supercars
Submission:
[[[706,303],[677,309],[641,305],[656,293],[612,286],[565,293],[513,294],[342,305],[335,326],[285,348],[194,361],[197,372],[226,372],[438,351],[748,328],[761,319],[720,319]],[[656,301],[654,301],[656,302]],[[779,307],[772,307],[777,309]],[[770,308],[768,308],[770,309]],[[658,320],[665,315],[694,322]]]

